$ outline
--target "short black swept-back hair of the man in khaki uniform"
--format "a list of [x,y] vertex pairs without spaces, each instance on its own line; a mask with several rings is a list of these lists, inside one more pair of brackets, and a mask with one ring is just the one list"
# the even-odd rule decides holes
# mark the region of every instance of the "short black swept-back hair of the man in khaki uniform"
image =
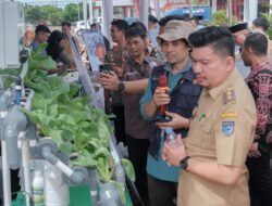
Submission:
[[209,26],[189,35],[189,44],[194,48],[211,46],[222,56],[235,57],[235,41],[227,27]]

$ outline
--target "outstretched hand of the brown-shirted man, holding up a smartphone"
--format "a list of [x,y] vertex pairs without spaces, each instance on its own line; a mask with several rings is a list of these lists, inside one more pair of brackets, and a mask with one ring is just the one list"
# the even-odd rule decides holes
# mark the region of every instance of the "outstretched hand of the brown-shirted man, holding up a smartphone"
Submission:
[[104,89],[112,91],[116,91],[119,88],[119,78],[114,72],[110,72],[110,74],[102,73],[98,78],[98,82],[101,83]]

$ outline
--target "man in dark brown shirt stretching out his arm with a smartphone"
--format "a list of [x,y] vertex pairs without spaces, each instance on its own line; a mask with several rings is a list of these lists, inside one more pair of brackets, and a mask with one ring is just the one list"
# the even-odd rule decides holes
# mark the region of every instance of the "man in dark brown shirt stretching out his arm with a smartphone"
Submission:
[[145,92],[153,66],[160,65],[162,62],[145,55],[147,33],[144,29],[128,28],[125,37],[129,56],[124,64],[123,80],[120,80],[114,72],[101,74],[99,80],[106,89],[122,92],[128,157],[135,169],[135,185],[144,204],[148,206],[146,162],[150,124],[145,121],[140,115],[139,100]]

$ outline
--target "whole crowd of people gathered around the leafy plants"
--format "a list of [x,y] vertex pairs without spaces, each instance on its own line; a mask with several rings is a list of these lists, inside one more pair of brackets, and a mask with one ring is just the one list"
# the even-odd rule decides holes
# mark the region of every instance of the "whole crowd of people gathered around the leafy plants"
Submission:
[[[183,16],[150,15],[148,27],[112,21],[110,72],[98,81],[135,169],[134,205],[272,206],[269,27],[264,17],[250,29]],[[75,68],[70,43],[82,49],[70,30],[69,22],[62,31],[39,25],[24,42],[35,51],[47,41],[45,55]],[[175,145],[165,140],[169,127]]]

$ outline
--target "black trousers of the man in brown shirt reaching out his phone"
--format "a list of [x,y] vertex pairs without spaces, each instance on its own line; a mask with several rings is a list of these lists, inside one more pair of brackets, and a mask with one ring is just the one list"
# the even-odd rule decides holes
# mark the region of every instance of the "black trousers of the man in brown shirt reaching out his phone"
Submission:
[[149,199],[146,167],[149,141],[148,139],[136,139],[131,136],[126,136],[126,142],[128,149],[128,158],[133,164],[136,176],[135,186],[139,193],[143,203],[145,204],[145,206],[148,206]]

